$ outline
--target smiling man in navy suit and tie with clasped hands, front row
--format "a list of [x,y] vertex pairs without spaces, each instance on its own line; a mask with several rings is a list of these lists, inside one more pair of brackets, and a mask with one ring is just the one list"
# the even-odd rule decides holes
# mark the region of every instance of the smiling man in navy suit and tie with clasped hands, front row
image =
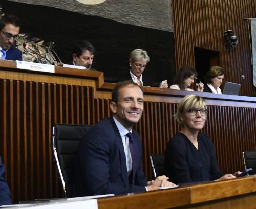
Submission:
[[173,185],[166,176],[147,181],[141,168],[140,137],[132,128],[143,112],[142,89],[133,81],[118,83],[110,109],[113,117],[97,123],[80,142],[76,196],[144,192]]

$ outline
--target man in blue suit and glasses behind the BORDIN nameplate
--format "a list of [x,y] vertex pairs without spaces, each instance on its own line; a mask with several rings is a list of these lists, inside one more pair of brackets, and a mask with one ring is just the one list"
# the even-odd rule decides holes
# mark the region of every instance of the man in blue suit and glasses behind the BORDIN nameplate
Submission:
[[22,51],[13,45],[18,39],[19,29],[16,16],[6,14],[0,19],[0,59],[22,61]]

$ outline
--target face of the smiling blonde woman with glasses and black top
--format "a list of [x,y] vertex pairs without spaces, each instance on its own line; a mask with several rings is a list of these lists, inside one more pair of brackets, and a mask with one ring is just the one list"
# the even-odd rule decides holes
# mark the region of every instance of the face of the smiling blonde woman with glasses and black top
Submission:
[[181,120],[184,122],[184,128],[188,128],[190,130],[201,130],[204,127],[206,117],[207,110],[205,110],[204,106],[199,108],[198,105],[193,108],[189,108],[186,112],[181,114]]

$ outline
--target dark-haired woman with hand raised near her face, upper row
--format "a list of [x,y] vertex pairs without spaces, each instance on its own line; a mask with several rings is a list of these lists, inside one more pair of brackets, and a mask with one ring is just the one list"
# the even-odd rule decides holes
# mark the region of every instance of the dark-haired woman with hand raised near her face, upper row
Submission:
[[[187,91],[194,91],[191,88],[188,88],[193,84],[197,79],[197,72],[193,66],[183,66],[180,68],[179,72],[176,74],[174,79],[174,85],[170,86],[170,89],[175,90],[187,90]],[[203,91],[204,84],[202,82],[197,83],[197,91]]]

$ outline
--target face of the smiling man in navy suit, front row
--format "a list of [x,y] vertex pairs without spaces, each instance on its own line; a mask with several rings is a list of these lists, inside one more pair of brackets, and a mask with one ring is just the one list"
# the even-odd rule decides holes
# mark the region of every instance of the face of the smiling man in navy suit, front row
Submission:
[[143,92],[138,86],[128,85],[118,91],[118,102],[110,103],[114,117],[127,129],[138,123],[143,112]]

